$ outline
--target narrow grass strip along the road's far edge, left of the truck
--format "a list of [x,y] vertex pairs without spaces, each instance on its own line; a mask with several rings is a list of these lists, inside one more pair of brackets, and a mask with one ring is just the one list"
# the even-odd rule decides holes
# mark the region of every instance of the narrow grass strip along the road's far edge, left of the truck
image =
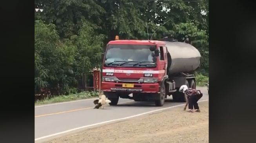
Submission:
[[97,92],[80,92],[80,93],[75,93],[75,94],[70,94],[70,95],[60,95],[56,97],[51,97],[46,98],[44,100],[37,100],[34,102],[35,105],[40,105],[40,104],[51,104],[51,103],[56,103],[56,102],[66,102],[66,101],[72,101],[72,100],[81,100],[81,99],[88,99],[88,98],[94,98],[94,97],[99,97],[99,93]]

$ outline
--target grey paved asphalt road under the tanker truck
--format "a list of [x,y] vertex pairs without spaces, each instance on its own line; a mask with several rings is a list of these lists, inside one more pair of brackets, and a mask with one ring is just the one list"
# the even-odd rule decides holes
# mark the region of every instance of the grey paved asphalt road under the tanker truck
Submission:
[[[209,99],[206,87],[198,87],[197,89],[200,89],[204,95],[200,100]],[[53,134],[67,130],[184,104],[172,102],[172,97],[165,100],[163,107],[155,107],[154,102],[134,102],[133,100],[120,98],[117,106],[106,106],[102,110],[93,109],[93,100],[35,107],[36,142],[54,138],[56,136],[52,136]]]

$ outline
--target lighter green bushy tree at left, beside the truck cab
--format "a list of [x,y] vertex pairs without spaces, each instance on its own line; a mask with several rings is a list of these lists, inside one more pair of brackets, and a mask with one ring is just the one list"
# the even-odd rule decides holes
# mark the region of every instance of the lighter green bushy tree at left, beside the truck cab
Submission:
[[82,73],[100,64],[103,35],[83,23],[78,35],[60,39],[54,24],[35,21],[35,89],[60,88],[69,94]]

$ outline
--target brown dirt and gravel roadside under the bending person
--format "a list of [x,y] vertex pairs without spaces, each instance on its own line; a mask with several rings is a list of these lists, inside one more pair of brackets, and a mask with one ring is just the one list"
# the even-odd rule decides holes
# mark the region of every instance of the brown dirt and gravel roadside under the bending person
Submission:
[[177,107],[45,143],[209,143],[209,102],[198,104],[201,113]]

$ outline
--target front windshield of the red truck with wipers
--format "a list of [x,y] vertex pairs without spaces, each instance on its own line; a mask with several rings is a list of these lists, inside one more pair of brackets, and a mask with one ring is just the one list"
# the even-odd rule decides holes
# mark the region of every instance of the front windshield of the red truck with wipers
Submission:
[[154,52],[149,45],[109,45],[105,66],[154,66]]

